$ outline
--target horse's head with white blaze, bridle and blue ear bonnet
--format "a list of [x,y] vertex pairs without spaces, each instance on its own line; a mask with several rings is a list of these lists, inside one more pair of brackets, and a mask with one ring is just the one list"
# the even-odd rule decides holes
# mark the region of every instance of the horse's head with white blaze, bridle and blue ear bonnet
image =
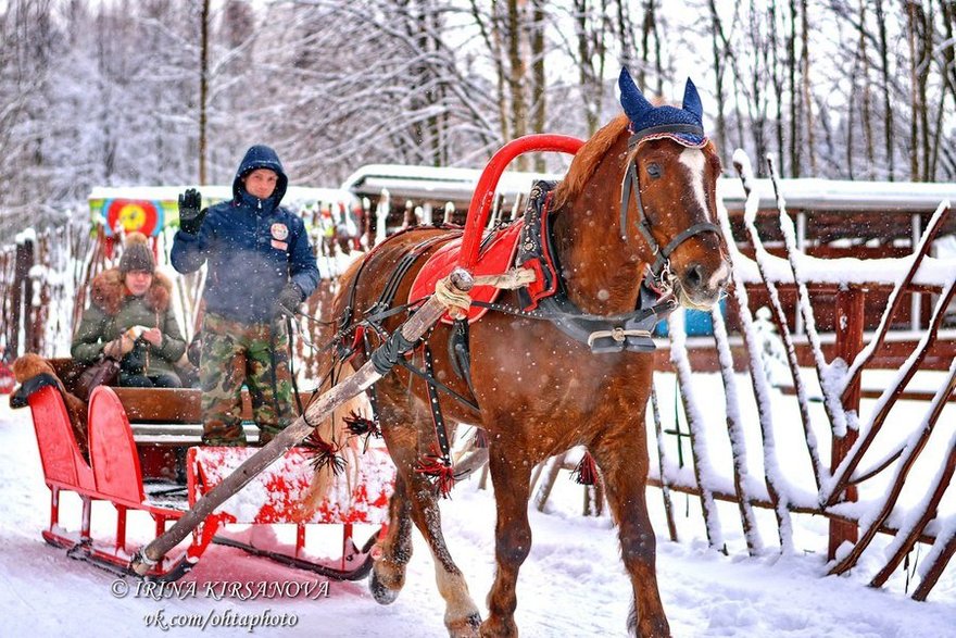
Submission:
[[717,225],[720,159],[704,135],[697,89],[688,79],[678,109],[651,104],[627,68],[618,84],[630,132],[621,239],[644,245],[652,275],[683,305],[708,309],[727,286],[730,262]]

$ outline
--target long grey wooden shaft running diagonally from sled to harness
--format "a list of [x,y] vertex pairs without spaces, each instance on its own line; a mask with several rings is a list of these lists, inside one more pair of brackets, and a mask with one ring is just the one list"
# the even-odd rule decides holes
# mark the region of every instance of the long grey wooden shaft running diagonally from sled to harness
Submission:
[[[453,275],[452,282],[460,290],[467,291],[470,289],[470,277],[466,273]],[[400,328],[402,336],[411,342],[418,341],[441,318],[446,310],[441,301],[432,296],[408,321],[402,324]],[[305,409],[305,414],[297,418],[271,440],[268,445],[239,465],[219,485],[200,498],[168,531],[155,538],[140,553],[137,553],[130,561],[130,570],[139,576],[146,576],[152,565],[179,545],[193,529],[199,527],[216,508],[246,487],[249,481],[285,454],[289,448],[309,436],[314,427],[310,424],[322,423],[334,410],[352,397],[372,387],[382,376],[385,375],[375,370],[372,361],[367,361],[365,365],[360,367],[355,374],[342,384],[331,388],[310,403],[309,408]]]

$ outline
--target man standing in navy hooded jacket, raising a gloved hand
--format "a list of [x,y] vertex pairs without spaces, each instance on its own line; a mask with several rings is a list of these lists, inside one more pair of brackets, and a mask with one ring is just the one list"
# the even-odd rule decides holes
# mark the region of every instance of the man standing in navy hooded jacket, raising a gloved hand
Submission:
[[192,273],[209,264],[200,362],[205,445],[246,445],[243,383],[261,442],[292,421],[281,315],[312,295],[318,268],[302,220],[279,208],[288,182],[276,152],[254,146],[239,164],[230,201],[200,210],[196,189],[179,196],[173,267]]

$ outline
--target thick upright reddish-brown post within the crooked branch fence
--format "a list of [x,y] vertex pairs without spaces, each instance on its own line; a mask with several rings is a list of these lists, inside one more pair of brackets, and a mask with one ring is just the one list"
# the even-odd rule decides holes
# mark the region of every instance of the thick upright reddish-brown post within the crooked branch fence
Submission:
[[[836,293],[836,343],[833,356],[840,356],[847,365],[853,363],[856,355],[863,350],[863,328],[864,328],[864,301],[866,292],[859,288],[841,289]],[[843,395],[843,409],[846,412],[859,413],[860,397],[860,377],[857,376],[853,384],[846,388]],[[830,453],[830,471],[835,472],[840,462],[850,452],[853,443],[856,442],[858,433],[847,429],[840,437],[833,437],[833,449]],[[855,501],[857,499],[856,486],[851,485],[846,488],[846,500]],[[833,560],[836,556],[836,549],[845,541],[856,542],[859,537],[859,528],[845,521],[830,520],[830,542],[827,549],[827,556]]]

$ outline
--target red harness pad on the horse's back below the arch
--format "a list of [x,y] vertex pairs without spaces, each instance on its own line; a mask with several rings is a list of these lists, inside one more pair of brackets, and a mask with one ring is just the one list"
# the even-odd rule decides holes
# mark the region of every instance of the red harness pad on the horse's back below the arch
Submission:
[[[499,230],[489,240],[482,242],[483,250],[478,255],[478,262],[471,272],[473,275],[500,275],[507,271],[515,259],[515,252],[518,248],[518,240],[521,236],[521,224],[515,223]],[[408,292],[408,301],[414,302],[428,297],[435,292],[435,285],[439,279],[451,273],[458,265],[458,253],[462,249],[462,239],[449,241],[442,246],[438,252],[432,254],[412,284],[412,291]],[[498,299],[501,290],[494,286],[475,286],[468,296],[474,301],[483,301],[491,303]],[[473,323],[481,318],[488,312],[487,308],[473,305],[468,310],[468,323]],[[445,314],[441,317],[444,323],[451,323],[452,318]]]

